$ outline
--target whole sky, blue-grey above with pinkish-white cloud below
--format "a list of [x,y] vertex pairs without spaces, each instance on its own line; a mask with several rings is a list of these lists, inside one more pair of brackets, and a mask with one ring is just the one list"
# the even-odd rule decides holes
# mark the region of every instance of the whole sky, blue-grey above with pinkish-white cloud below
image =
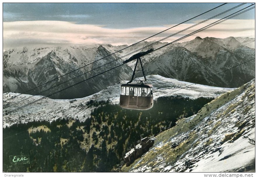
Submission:
[[[239,4],[227,3],[148,40],[160,40]],[[219,5],[222,3],[3,3],[3,48],[129,45]],[[176,40],[250,5],[246,3],[164,42]],[[254,19],[252,9],[183,41],[196,36],[254,38]]]

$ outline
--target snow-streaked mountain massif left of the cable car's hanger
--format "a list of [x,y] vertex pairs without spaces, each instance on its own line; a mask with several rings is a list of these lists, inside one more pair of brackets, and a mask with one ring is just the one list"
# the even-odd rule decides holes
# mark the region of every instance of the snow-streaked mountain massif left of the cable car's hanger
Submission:
[[[111,53],[101,45],[99,47],[93,48],[57,47],[37,50],[28,50],[23,48],[22,51],[5,51],[3,92],[23,93],[31,88],[60,77],[70,71],[76,70],[110,54]],[[41,93],[41,95],[46,96],[50,93],[58,91],[67,86],[71,86],[75,83],[78,83],[79,81],[85,80],[122,63],[121,60],[114,60],[115,58],[113,56],[108,56],[100,61],[76,70],[75,72],[72,72],[64,77],[61,77],[58,80],[52,81],[42,87],[29,91],[26,94],[37,95],[40,91],[57,85],[57,87]],[[83,73],[100,67],[103,64],[109,63],[111,61],[114,62],[83,75]],[[105,75],[95,77],[94,80],[87,80],[86,82],[76,85],[76,87],[69,88],[68,90],[53,95],[52,98],[69,99],[92,95],[93,93],[96,93],[113,83],[129,79],[131,73],[131,68],[127,65],[123,65],[122,67],[105,73]],[[75,76],[79,77],[60,85],[62,82],[74,78]]]

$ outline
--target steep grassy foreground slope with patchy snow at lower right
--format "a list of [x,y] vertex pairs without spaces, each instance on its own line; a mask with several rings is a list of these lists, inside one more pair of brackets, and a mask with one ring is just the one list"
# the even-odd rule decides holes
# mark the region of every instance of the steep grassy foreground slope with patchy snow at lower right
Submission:
[[206,104],[153,138],[127,172],[255,171],[255,80]]

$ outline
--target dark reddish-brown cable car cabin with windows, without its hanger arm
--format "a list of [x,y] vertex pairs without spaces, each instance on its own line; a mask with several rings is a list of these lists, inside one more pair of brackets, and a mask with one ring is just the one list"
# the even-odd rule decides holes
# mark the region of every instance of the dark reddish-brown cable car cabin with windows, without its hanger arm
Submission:
[[153,106],[153,86],[127,83],[121,85],[120,106],[126,109],[147,110]]

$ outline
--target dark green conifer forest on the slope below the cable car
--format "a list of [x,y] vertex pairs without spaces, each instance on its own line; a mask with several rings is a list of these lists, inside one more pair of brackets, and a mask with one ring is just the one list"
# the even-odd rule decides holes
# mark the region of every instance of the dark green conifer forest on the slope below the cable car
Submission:
[[[99,105],[84,122],[77,118],[32,121],[3,128],[5,172],[119,171],[123,156],[146,136],[175,126],[197,113],[213,98],[160,97],[147,111],[126,110],[118,104]],[[10,155],[29,155],[29,164],[11,163]]]

